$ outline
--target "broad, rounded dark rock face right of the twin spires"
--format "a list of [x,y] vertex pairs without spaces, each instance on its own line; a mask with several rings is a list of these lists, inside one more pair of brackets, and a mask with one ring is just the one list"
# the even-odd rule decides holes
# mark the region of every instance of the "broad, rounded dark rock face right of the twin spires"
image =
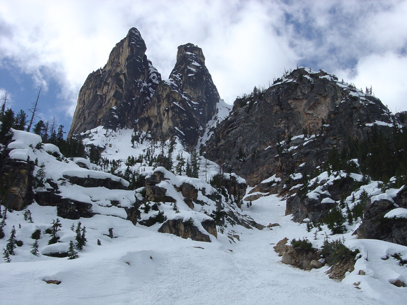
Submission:
[[[312,172],[333,148],[346,147],[347,139],[365,140],[376,120],[391,123],[380,100],[326,72],[300,68],[238,98],[207,141],[206,157],[229,164],[255,186],[274,174],[284,179]],[[283,184],[269,189],[279,192]]]

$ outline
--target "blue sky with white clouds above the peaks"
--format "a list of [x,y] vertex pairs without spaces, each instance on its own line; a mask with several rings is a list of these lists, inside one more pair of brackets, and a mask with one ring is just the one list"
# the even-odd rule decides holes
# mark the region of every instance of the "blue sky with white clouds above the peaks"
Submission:
[[202,48],[232,104],[297,66],[325,70],[407,110],[407,1],[0,0],[0,97],[68,132],[79,89],[131,27],[167,79],[177,47]]

